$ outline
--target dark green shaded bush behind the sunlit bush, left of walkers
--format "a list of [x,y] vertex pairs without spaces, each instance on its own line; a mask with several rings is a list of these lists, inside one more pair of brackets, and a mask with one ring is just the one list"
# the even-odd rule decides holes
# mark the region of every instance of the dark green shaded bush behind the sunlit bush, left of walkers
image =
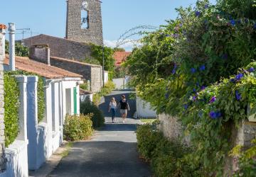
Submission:
[[92,126],[94,128],[102,127],[102,125],[104,125],[105,118],[102,111],[89,99],[86,99],[80,104],[80,113],[84,115],[92,113]]

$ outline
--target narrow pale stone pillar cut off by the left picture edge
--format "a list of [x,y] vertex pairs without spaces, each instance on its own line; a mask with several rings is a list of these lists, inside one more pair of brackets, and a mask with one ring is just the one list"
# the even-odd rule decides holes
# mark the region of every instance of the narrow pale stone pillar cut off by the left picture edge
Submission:
[[0,29],[0,173],[6,170],[4,155],[4,56],[5,56],[5,30]]

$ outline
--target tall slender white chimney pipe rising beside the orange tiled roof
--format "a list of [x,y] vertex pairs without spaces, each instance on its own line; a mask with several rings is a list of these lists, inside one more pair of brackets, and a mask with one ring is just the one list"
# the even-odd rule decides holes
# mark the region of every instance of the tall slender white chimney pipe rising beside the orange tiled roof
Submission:
[[15,71],[15,24],[9,23],[9,67]]

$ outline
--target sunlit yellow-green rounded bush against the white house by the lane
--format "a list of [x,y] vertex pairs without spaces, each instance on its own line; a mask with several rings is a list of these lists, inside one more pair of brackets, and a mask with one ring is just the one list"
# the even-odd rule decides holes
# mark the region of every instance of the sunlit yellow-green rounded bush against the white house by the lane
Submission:
[[77,141],[92,135],[92,114],[68,115],[64,125],[64,139]]

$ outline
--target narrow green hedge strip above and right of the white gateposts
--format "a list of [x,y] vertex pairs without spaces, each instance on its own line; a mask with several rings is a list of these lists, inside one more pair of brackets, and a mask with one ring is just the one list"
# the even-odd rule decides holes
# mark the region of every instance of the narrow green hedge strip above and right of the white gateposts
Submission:
[[24,71],[15,71],[15,72],[6,72],[6,73],[10,75],[38,76],[38,122],[41,122],[45,116],[45,110],[46,110],[46,99],[45,99],[45,93],[44,93],[45,79],[42,76],[39,76],[38,74],[33,74],[29,72],[24,72]]

